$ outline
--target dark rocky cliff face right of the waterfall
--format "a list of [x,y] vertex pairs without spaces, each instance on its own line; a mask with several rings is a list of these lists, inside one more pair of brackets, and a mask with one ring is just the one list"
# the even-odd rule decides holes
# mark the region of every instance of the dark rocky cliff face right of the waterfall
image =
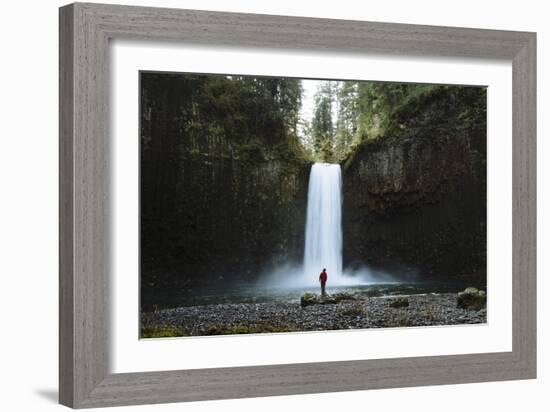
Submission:
[[422,276],[484,273],[484,99],[472,88],[411,102],[386,136],[344,162],[345,263]]

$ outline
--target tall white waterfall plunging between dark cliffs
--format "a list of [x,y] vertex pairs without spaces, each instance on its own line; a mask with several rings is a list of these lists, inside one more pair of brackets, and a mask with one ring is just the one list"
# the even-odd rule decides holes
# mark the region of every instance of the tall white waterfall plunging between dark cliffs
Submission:
[[342,277],[342,172],[339,164],[315,163],[309,175],[303,276],[317,283],[326,268],[328,285]]

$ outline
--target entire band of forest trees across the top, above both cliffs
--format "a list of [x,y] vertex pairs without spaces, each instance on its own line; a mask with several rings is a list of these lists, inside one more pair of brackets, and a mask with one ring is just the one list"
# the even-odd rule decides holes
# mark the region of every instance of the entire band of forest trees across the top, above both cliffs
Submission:
[[[169,78],[149,73],[144,81]],[[454,95],[464,124],[485,121],[479,87],[193,74],[173,84],[183,134],[223,136],[242,160],[265,160],[277,151],[308,162],[342,162],[362,144],[396,137],[415,119],[415,108],[445,94]],[[146,93],[143,99],[148,104]]]

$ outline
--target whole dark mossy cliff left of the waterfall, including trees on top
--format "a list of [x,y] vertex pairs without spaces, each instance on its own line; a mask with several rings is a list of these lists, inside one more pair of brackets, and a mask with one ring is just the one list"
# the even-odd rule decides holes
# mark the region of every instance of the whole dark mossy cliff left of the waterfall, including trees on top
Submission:
[[254,280],[301,256],[296,80],[143,73],[142,297]]

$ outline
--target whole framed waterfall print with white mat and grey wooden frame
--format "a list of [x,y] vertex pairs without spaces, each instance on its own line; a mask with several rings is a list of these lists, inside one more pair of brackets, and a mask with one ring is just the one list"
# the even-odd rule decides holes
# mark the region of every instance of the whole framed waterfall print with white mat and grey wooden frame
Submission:
[[536,376],[533,33],[60,9],[60,401]]

